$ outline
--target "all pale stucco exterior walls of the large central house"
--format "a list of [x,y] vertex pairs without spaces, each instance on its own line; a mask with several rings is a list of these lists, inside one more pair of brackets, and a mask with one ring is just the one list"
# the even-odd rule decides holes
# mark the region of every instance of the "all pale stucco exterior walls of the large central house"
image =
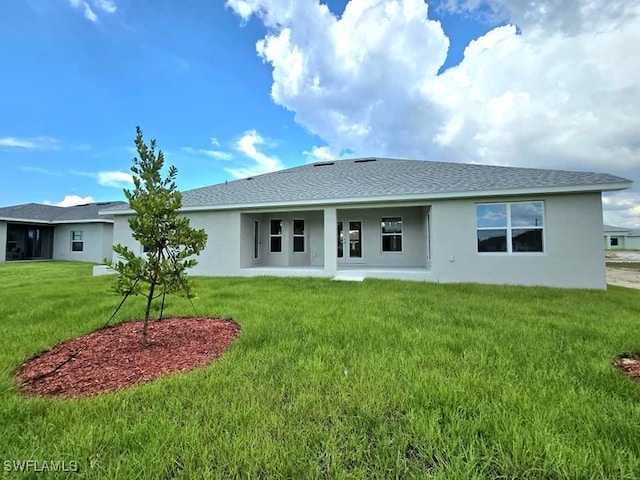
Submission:
[[[522,201],[544,202],[544,252],[479,253],[476,204]],[[600,193],[425,200],[413,206],[387,203],[308,211],[203,211],[188,215],[192,227],[204,228],[209,236],[206,248],[197,259],[198,265],[191,272],[194,275],[265,274],[260,268],[252,267],[287,267],[282,274],[294,275],[300,265],[303,269],[304,266],[324,266],[314,274],[333,276],[336,266],[340,269],[340,262],[335,259],[336,221],[360,220],[366,262],[363,267],[391,269],[380,274],[385,278],[407,278],[400,270],[394,277],[393,268],[397,267],[418,269],[411,278],[426,281],[606,288]],[[402,217],[402,253],[381,251],[383,216]],[[306,222],[306,250],[300,255],[299,264],[298,259],[291,256],[295,218]],[[283,221],[282,253],[268,251],[271,219]],[[253,258],[256,220],[260,222],[257,260]],[[345,229],[348,229],[346,223]],[[116,217],[114,243],[141,252],[140,245],[131,237],[126,216]],[[325,254],[332,258],[325,261]],[[303,269],[301,272],[305,272]],[[307,270],[305,274],[309,273]],[[268,274],[279,273],[269,270]]]

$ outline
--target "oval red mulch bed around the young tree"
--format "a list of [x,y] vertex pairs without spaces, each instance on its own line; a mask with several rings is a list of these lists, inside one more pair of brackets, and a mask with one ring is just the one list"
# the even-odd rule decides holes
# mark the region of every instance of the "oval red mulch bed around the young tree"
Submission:
[[206,365],[238,335],[232,320],[167,318],[149,322],[142,348],[142,321],[126,322],[60,343],[16,377],[27,394],[88,397]]

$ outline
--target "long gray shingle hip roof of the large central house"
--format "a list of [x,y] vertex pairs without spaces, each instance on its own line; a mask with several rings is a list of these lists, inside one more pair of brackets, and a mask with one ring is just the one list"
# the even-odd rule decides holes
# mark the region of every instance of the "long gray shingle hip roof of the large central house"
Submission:
[[[384,200],[564,187],[563,191],[628,188],[631,180],[606,173],[362,158],[319,162],[182,192],[184,208]],[[582,188],[581,188],[582,187]],[[113,213],[122,208],[111,209]],[[124,210],[127,210],[124,208]]]

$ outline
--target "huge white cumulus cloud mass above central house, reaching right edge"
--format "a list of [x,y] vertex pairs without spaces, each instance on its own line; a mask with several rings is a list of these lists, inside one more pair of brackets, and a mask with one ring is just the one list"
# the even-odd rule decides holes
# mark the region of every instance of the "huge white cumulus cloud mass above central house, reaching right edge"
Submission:
[[227,5],[268,27],[274,102],[332,151],[640,178],[639,2],[434,2],[511,22],[440,74],[449,40],[424,0]]

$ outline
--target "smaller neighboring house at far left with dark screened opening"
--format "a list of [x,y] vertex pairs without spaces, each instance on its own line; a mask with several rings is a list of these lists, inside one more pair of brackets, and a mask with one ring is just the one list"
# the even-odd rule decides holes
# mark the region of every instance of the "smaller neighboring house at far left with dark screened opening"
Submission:
[[98,211],[124,202],[56,207],[28,203],[0,208],[0,262],[111,258],[113,217]]

